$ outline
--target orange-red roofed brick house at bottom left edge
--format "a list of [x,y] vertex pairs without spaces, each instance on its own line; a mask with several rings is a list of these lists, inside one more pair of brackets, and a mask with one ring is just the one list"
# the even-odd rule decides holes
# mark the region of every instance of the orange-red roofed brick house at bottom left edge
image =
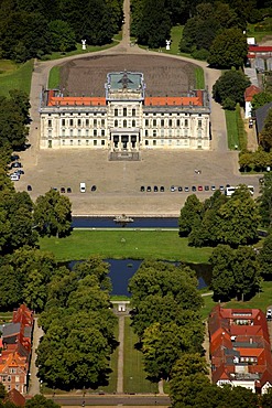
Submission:
[[33,324],[33,312],[22,304],[1,326],[0,382],[7,391],[26,393]]

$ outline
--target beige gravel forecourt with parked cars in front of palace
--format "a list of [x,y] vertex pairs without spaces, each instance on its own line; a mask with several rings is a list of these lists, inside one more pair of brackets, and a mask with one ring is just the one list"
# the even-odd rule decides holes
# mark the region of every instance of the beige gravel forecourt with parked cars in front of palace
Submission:
[[[237,152],[231,151],[149,150],[141,153],[140,161],[112,162],[107,151],[40,150],[35,162],[28,158],[28,151],[20,153],[24,174],[15,182],[15,187],[26,191],[31,185],[33,200],[51,187],[59,192],[64,189],[63,194],[69,196],[76,215],[177,216],[193,186],[200,200],[213,194],[211,185],[218,189],[246,183],[254,186],[255,194],[259,191],[259,178],[241,176]],[[80,193],[80,183],[86,184],[85,193]],[[151,187],[149,192],[148,186]],[[157,192],[154,186],[159,187]],[[164,191],[160,191],[161,186]],[[178,191],[178,186],[183,190]]]

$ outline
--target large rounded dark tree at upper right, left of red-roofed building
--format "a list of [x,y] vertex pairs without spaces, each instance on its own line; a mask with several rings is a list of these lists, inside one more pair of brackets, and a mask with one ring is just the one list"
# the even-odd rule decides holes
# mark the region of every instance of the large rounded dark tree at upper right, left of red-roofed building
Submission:
[[209,49],[208,63],[216,68],[239,68],[248,54],[247,37],[239,29],[226,29],[214,40]]

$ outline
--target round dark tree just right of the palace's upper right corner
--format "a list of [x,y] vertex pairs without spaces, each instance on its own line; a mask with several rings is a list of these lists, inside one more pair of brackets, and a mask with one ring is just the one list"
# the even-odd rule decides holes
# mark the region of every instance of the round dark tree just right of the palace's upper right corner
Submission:
[[227,98],[236,104],[243,103],[246,88],[250,85],[249,78],[239,71],[227,71],[213,86],[214,99],[224,105]]

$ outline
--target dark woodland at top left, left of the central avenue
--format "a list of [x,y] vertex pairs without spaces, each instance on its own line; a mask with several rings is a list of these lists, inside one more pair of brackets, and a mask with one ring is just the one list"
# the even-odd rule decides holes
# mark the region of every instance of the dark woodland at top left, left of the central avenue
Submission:
[[121,0],[1,0],[0,57],[23,62],[73,50],[81,39],[109,43],[122,15]]

